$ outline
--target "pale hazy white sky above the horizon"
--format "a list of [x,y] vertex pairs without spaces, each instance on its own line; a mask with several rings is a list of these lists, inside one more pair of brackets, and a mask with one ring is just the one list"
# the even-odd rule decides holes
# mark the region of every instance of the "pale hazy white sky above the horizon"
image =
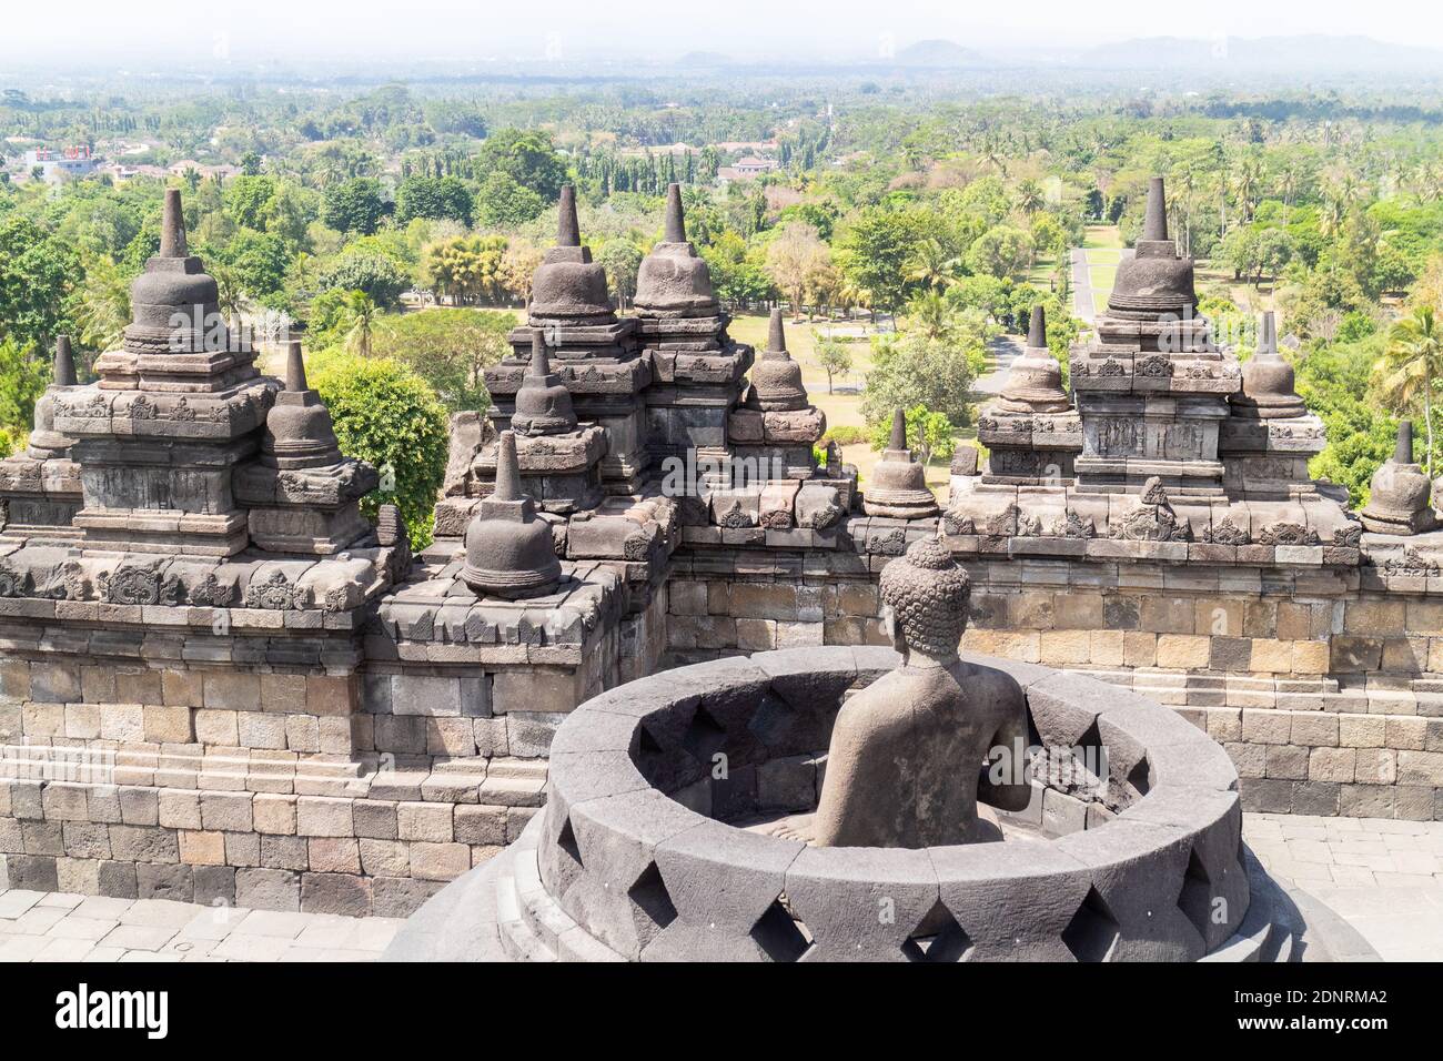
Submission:
[[[983,10],[977,10],[977,9]],[[1431,7],[1431,10],[1430,10]],[[720,51],[736,58],[869,58],[948,38],[983,49],[1085,46],[1133,36],[1356,33],[1443,48],[1443,4],[1417,0],[6,0],[0,64],[165,55],[267,58],[560,58]]]

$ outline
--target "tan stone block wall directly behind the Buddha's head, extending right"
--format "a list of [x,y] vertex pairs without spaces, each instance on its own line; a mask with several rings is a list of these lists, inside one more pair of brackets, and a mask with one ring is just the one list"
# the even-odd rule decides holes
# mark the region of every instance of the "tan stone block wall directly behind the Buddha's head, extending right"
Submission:
[[[902,543],[880,523],[821,556],[690,543],[674,557],[670,658],[885,642],[876,570]],[[965,650],[1088,671],[1173,706],[1227,748],[1245,807],[1443,818],[1437,580],[1398,589],[1356,567],[960,559],[973,582]]]

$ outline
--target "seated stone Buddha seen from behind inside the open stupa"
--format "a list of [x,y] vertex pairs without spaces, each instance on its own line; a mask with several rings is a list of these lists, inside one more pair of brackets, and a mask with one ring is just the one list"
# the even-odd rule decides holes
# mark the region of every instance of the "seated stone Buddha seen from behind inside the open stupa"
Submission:
[[818,847],[935,847],[1000,839],[978,800],[1027,805],[1017,774],[993,784],[994,748],[1027,743],[1022,689],[1003,671],[962,661],[968,582],[947,546],[924,538],[882,569],[882,602],[902,665],[847,700],[831,733],[814,816],[784,836]]

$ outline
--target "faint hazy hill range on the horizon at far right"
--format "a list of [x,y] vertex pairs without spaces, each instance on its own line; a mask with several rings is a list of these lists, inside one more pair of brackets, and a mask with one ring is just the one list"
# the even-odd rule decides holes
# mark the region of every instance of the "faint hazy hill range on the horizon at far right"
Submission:
[[1304,66],[1313,72],[1336,69],[1397,69],[1427,66],[1443,69],[1443,52],[1427,48],[1388,45],[1372,38],[1325,36],[1307,33],[1276,38],[1139,38],[1098,45],[1076,58],[1076,65],[1118,69],[1177,69],[1234,65],[1250,69],[1290,69]]

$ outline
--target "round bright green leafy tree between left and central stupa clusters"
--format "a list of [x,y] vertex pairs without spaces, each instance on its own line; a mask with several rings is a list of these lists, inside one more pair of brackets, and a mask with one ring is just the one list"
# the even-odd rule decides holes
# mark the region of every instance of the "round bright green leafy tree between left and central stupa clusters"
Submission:
[[361,510],[374,520],[381,504],[395,504],[411,530],[411,547],[426,547],[450,445],[436,394],[405,365],[385,358],[326,359],[310,385],[330,410],[342,452],[375,465],[391,485],[372,491]]

